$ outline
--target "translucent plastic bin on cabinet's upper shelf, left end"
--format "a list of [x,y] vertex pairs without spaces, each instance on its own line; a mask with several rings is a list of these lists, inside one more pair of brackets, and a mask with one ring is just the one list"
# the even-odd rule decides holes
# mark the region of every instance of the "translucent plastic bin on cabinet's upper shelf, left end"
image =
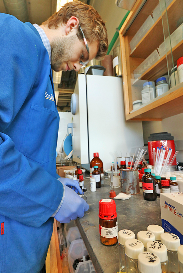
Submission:
[[131,51],[135,48],[135,46],[140,42],[140,40],[144,37],[144,35],[149,31],[149,29],[154,24],[154,20],[152,19],[152,16],[149,15],[143,25],[139,28],[135,36],[130,41],[130,48]]

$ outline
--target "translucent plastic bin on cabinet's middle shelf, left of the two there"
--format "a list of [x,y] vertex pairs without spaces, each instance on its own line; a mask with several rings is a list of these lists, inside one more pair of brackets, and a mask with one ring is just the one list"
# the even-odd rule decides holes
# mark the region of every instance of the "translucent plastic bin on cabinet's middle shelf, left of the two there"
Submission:
[[143,62],[134,70],[134,77],[137,79],[140,77],[147,69],[149,69],[153,64],[160,60],[160,56],[155,49]]

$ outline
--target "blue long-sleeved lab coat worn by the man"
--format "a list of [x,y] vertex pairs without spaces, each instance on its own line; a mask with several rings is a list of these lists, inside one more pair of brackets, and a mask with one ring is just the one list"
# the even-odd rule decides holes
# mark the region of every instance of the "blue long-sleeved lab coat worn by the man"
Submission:
[[30,23],[0,14],[1,273],[37,273],[63,197],[48,52]]

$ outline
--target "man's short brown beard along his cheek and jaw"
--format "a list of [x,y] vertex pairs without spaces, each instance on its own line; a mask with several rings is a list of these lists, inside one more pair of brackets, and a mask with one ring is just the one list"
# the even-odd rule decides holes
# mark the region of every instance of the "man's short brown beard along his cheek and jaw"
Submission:
[[74,51],[73,45],[77,38],[75,36],[57,37],[51,42],[51,67],[54,71],[61,71],[62,64],[70,60]]

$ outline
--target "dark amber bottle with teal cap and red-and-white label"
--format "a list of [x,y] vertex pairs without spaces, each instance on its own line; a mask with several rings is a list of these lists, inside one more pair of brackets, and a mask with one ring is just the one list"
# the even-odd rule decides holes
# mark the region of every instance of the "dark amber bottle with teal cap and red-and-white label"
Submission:
[[151,174],[151,169],[144,169],[144,175],[142,177],[142,189],[144,199],[147,201],[156,200],[156,187],[155,178]]

